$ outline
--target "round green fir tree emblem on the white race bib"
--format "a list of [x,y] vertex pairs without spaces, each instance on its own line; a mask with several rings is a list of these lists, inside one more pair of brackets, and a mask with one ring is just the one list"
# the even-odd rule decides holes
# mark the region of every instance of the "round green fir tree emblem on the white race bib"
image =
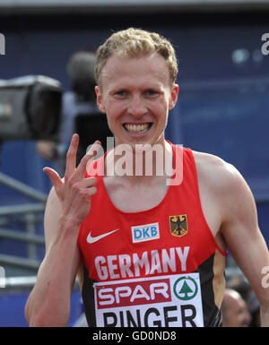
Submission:
[[178,299],[187,301],[195,298],[198,292],[198,285],[191,277],[181,277],[174,284],[174,294]]

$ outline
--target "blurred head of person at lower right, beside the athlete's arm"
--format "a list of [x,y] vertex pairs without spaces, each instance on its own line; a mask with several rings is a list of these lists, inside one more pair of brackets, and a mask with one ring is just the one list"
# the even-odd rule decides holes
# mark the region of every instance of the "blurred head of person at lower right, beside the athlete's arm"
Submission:
[[223,327],[247,327],[251,322],[247,303],[235,289],[225,289],[222,318]]

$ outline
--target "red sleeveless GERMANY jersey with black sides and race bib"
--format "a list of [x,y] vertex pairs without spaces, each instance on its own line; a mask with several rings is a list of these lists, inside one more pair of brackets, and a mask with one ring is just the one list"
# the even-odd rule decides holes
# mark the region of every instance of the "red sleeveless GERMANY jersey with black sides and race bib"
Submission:
[[183,152],[183,179],[150,210],[118,210],[96,175],[78,237],[90,326],[221,326],[226,253],[204,219],[193,152],[172,149],[174,166]]

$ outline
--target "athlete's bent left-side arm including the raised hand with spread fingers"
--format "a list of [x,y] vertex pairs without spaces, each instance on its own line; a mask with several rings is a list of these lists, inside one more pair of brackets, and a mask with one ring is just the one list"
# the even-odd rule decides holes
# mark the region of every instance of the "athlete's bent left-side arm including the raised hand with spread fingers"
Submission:
[[87,163],[100,148],[100,143],[92,145],[75,168],[78,141],[75,134],[66,156],[64,180],[55,170],[44,169],[54,188],[48,196],[44,218],[45,259],[25,307],[31,326],[66,326],[68,323],[70,298],[80,263],[77,237],[90,211],[91,196],[96,193],[96,179],[84,176]]

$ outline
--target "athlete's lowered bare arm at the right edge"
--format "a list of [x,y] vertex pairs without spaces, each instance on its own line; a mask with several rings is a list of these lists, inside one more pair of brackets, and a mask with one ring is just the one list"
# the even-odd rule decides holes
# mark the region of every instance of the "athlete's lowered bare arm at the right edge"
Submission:
[[269,326],[269,287],[263,286],[269,266],[268,248],[258,228],[254,197],[239,171],[225,163],[222,183],[221,205],[223,222],[221,235],[230,249],[230,254],[246,275],[256,293],[261,307],[261,323]]

